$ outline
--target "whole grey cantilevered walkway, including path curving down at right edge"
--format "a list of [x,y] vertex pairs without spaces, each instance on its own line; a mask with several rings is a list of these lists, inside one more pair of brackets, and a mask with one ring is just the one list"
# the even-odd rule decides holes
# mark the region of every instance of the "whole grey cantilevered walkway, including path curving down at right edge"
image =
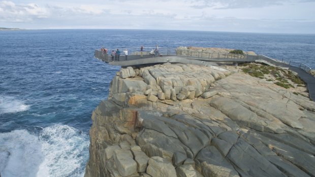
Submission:
[[174,48],[159,48],[159,52],[155,52],[155,54],[152,55],[150,54],[150,49],[154,48],[146,47],[144,51],[140,51],[139,48],[130,48],[128,49],[127,56],[124,55],[123,51],[120,51],[121,54],[119,56],[119,60],[118,56],[111,56],[112,50],[109,50],[108,53],[95,50],[94,56],[110,65],[118,66],[133,66],[167,62],[211,66],[217,65],[218,62],[259,62],[271,66],[290,68],[294,72],[298,73],[299,77],[307,84],[310,99],[315,99],[315,78],[309,74],[311,68],[304,63],[299,63],[299,67],[297,67],[292,66],[291,63],[275,60],[265,55],[209,53]]

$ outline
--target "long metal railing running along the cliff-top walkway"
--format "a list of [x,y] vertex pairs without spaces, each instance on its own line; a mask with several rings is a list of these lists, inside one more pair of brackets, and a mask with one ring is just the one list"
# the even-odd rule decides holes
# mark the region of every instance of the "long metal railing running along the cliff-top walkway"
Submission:
[[[128,50],[128,56],[125,57],[123,50]],[[233,53],[214,53],[207,51],[197,51],[190,49],[175,49],[175,48],[159,48],[158,55],[150,54],[151,50],[154,50],[155,47],[145,47],[141,51],[140,48],[122,48],[120,50],[119,60],[136,60],[141,58],[150,58],[150,57],[159,57],[159,56],[185,56],[192,57],[191,59],[200,59],[204,61],[245,61],[245,62],[255,62],[257,60],[264,60],[271,64],[277,66],[299,66],[299,68],[305,70],[307,73],[310,73],[311,67],[304,63],[294,63],[294,62],[284,62],[267,57],[265,55],[248,55],[248,54],[233,54]],[[116,51],[117,49],[109,49],[107,53],[101,52],[99,49],[95,50],[94,56],[96,58],[102,59],[105,62],[111,62],[115,56],[111,56],[112,51]]]

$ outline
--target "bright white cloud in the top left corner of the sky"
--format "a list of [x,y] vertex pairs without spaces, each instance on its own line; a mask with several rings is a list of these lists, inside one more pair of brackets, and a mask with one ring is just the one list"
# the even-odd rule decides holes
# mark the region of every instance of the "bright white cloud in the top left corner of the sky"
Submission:
[[11,1],[0,2],[0,21],[29,22],[34,18],[47,18],[49,12],[37,4],[16,5]]

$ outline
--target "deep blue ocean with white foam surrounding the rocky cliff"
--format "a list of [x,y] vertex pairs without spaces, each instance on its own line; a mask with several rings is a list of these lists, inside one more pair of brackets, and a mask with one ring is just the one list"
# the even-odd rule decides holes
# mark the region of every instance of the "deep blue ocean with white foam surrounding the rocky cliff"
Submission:
[[91,113],[117,66],[94,49],[144,46],[255,51],[315,67],[315,35],[168,30],[0,31],[0,173],[83,176]]

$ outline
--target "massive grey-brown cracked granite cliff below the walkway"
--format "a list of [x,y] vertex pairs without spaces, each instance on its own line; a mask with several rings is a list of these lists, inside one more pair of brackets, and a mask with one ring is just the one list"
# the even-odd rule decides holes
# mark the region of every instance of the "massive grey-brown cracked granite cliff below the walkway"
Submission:
[[234,67],[122,68],[92,113],[90,176],[315,176],[315,103]]

